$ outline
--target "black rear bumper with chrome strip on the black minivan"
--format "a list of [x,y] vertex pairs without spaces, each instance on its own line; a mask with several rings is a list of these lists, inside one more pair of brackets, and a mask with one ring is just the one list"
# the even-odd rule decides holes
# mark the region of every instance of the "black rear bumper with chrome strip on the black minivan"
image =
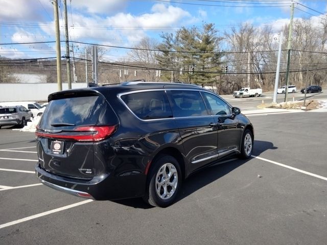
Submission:
[[146,176],[137,174],[114,177],[102,175],[91,180],[65,178],[35,166],[36,177],[40,182],[53,189],[81,198],[95,200],[118,200],[142,197],[145,191]]

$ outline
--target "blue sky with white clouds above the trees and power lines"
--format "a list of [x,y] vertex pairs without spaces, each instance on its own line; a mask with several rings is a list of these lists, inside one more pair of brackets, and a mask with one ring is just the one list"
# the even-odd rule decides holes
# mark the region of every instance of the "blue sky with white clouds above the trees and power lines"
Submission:
[[[55,41],[54,10],[50,0],[0,0],[0,43]],[[295,18],[319,21],[327,1],[296,1]],[[61,40],[63,0],[58,0]],[[215,23],[220,33],[233,25],[269,25],[277,33],[290,18],[288,0],[67,0],[69,39],[78,42],[132,47],[144,37],[160,41],[162,32]],[[303,6],[304,5],[304,6]],[[267,7],[268,6],[268,7]],[[305,7],[306,6],[306,7]],[[74,44],[75,45],[75,44]],[[62,55],[64,43],[62,43]],[[84,52],[76,44],[76,55]],[[125,59],[126,50],[109,48],[108,61]],[[55,57],[52,43],[0,45],[0,55],[19,58]]]

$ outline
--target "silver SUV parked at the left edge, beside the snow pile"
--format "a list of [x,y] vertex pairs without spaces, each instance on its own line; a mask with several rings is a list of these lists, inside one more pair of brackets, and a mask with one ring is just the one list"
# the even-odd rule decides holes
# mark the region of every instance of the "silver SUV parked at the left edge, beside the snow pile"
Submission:
[[0,107],[0,129],[2,126],[18,125],[21,128],[31,119],[31,110],[24,106],[5,106]]

